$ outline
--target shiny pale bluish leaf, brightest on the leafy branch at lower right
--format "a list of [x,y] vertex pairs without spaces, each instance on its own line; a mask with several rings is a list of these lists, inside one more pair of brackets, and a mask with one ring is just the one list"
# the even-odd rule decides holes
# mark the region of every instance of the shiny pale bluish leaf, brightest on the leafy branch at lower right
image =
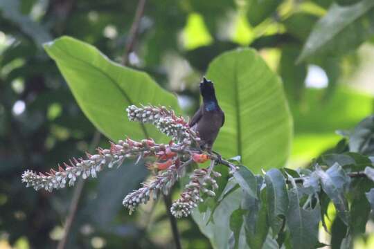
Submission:
[[326,172],[317,167],[316,172],[321,179],[323,192],[334,203],[341,221],[348,225],[350,217],[348,203],[344,197],[344,189],[350,183],[350,177],[346,175],[346,172],[338,163],[332,165]]

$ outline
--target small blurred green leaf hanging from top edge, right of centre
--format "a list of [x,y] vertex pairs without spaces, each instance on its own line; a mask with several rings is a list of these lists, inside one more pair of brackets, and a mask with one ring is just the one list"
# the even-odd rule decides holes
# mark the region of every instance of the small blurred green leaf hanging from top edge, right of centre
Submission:
[[275,12],[281,3],[281,0],[247,0],[247,17],[249,23],[252,26],[260,24]]

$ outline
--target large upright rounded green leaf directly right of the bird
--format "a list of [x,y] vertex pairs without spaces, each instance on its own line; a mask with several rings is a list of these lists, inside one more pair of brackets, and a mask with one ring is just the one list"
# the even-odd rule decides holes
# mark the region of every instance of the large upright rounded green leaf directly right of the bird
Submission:
[[215,142],[224,156],[242,156],[254,172],[281,167],[290,152],[292,118],[281,80],[252,49],[223,53],[208,67],[226,122]]

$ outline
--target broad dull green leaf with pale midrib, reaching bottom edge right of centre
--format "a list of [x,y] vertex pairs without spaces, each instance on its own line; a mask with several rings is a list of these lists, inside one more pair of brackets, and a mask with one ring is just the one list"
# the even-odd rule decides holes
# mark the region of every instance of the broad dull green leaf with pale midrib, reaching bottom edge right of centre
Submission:
[[301,196],[296,189],[288,192],[288,198],[290,207],[286,221],[290,228],[293,248],[314,248],[318,241],[318,224],[321,220],[319,203],[311,210],[301,208]]

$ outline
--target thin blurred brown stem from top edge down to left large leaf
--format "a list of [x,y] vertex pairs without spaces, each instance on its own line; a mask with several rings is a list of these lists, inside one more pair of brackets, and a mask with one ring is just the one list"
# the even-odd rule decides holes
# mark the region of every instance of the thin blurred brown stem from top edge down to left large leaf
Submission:
[[139,32],[141,17],[143,17],[143,13],[144,13],[145,1],[146,0],[139,0],[138,6],[136,7],[134,21],[132,21],[132,26],[129,32],[130,34],[128,36],[129,38],[127,40],[127,44],[125,47],[125,53],[123,53],[123,58],[122,58],[122,64],[125,66],[127,65],[129,54],[132,52],[132,49],[134,48],[134,44],[136,42],[136,37]]

